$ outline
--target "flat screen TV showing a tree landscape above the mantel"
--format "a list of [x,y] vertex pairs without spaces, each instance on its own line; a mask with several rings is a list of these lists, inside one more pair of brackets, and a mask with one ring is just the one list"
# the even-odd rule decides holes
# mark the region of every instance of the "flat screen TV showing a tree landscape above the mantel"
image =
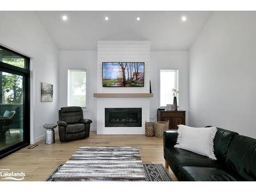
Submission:
[[103,87],[144,87],[144,62],[102,62]]

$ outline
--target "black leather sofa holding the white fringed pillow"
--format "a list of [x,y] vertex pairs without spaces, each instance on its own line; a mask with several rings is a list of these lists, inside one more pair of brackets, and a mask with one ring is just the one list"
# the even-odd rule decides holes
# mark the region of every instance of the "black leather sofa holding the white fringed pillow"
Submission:
[[177,131],[164,132],[164,159],[180,181],[255,181],[256,139],[217,128],[217,160],[176,148]]

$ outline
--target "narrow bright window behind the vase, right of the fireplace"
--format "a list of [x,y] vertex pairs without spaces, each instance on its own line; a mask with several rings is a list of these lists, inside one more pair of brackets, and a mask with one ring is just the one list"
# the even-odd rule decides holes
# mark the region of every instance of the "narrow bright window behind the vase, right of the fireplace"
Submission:
[[[160,70],[160,106],[173,104],[173,89],[178,89],[179,70]],[[177,97],[179,104],[179,98]]]

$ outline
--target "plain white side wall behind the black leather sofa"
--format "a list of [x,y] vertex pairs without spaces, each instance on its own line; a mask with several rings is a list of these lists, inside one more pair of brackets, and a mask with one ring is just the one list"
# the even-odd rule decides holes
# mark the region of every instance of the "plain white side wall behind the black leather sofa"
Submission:
[[256,137],[256,12],[214,12],[189,50],[189,123]]

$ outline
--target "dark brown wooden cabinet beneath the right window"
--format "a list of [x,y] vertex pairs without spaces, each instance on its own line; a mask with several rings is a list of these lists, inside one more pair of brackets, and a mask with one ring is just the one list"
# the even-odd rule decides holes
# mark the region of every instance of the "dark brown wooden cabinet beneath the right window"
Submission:
[[184,124],[186,120],[186,111],[165,111],[157,110],[157,120],[169,120],[169,130],[177,130],[178,124]]

